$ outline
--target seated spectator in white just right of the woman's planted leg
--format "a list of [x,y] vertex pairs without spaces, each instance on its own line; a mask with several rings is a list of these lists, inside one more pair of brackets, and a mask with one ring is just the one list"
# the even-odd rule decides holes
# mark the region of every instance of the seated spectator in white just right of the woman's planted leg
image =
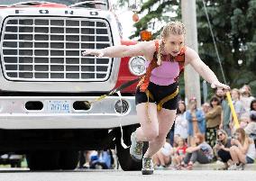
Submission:
[[164,146],[153,156],[153,163],[156,168],[168,167],[171,163],[172,147],[169,142],[165,142]]

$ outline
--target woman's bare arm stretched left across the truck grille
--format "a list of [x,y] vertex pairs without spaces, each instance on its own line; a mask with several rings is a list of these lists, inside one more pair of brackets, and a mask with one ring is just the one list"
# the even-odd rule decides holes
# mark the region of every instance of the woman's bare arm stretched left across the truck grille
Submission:
[[105,49],[93,50],[86,49],[82,52],[83,56],[95,55],[96,57],[123,58],[144,55],[153,44],[151,41],[142,41],[135,45],[116,45]]

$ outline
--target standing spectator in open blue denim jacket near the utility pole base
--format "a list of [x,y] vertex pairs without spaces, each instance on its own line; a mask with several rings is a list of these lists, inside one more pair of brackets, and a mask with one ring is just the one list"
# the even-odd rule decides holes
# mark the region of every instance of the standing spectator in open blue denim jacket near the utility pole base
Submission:
[[198,132],[205,134],[206,120],[202,110],[197,109],[197,99],[192,97],[188,102],[189,110],[186,112],[188,122],[188,145],[195,144],[194,135]]

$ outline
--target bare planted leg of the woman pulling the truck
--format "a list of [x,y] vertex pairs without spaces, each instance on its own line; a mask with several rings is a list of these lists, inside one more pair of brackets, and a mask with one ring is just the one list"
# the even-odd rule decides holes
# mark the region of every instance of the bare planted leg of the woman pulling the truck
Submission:
[[[154,115],[155,114],[153,113],[153,116]],[[159,131],[156,132],[158,133],[158,136],[155,137],[154,140],[150,140],[149,149],[146,151],[144,158],[151,158],[164,145],[166,136],[174,122],[175,115],[176,110],[169,110],[165,108],[162,108],[160,113],[157,114],[159,126],[156,127],[159,128]],[[148,131],[151,132],[151,130]],[[155,135],[156,134],[154,133],[153,136]]]

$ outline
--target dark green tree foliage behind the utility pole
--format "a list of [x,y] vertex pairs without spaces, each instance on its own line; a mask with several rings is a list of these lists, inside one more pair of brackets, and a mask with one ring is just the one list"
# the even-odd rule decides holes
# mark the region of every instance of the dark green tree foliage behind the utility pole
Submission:
[[[210,23],[213,27],[216,46],[224,67],[224,76],[231,87],[248,84],[256,94],[256,1],[255,0],[205,0]],[[138,14],[145,14],[134,24],[137,31],[131,38],[139,37],[142,30],[155,30],[170,20],[180,21],[180,2],[148,0]],[[177,8],[178,7],[178,8]],[[168,16],[167,12],[176,15]],[[157,30],[157,31],[156,31]],[[223,82],[214,43],[206,20],[203,0],[197,0],[198,53]],[[183,87],[181,87],[183,88]]]

